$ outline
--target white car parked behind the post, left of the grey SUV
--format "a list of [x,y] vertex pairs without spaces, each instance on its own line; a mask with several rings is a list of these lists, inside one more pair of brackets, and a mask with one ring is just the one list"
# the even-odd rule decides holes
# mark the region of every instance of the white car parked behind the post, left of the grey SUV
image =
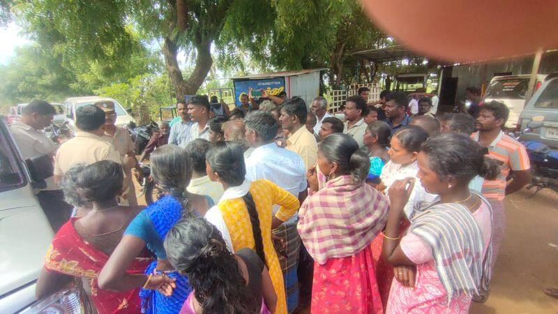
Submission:
[[[518,119],[523,107],[525,107],[525,96],[527,96],[530,77],[531,75],[503,75],[495,76],[490,80],[484,101],[489,103],[492,100],[497,100],[509,108],[510,116],[506,122],[506,128],[515,129],[519,126]],[[536,76],[535,91],[541,87],[545,77],[545,74]]]

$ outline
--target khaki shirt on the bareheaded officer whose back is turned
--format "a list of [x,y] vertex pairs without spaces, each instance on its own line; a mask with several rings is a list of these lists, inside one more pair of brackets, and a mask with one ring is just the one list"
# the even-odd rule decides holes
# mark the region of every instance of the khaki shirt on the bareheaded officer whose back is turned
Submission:
[[75,137],[61,144],[54,157],[54,175],[61,176],[73,165],[91,165],[100,160],[122,163],[120,154],[112,144],[92,133],[78,132]]

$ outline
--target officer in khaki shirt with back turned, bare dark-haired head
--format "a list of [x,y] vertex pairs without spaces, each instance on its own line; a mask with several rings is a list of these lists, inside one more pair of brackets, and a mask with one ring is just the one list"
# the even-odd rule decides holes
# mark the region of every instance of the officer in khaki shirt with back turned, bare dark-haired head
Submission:
[[73,165],[91,165],[100,160],[121,163],[118,151],[103,140],[105,112],[94,105],[80,107],[75,112],[75,125],[79,129],[75,137],[60,145],[54,157],[54,181],[58,183]]

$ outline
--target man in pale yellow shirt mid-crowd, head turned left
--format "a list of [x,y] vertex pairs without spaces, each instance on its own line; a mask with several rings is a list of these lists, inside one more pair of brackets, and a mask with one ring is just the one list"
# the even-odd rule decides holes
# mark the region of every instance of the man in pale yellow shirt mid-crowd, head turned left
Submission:
[[315,165],[318,158],[318,145],[316,137],[306,129],[308,108],[300,97],[294,96],[285,100],[281,107],[279,117],[283,130],[287,130],[287,147],[301,156],[306,169]]

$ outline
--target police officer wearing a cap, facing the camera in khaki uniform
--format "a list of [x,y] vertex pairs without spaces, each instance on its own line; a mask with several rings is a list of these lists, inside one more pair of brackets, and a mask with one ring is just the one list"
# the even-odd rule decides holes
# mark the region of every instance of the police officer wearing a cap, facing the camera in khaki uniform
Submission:
[[128,130],[116,126],[116,111],[114,110],[114,103],[111,100],[100,100],[93,105],[96,105],[105,112],[105,133],[103,140],[106,140],[114,146],[116,151],[119,152],[121,163],[124,169],[124,185],[128,186],[122,195],[121,203],[130,206],[137,206],[137,197],[135,195],[135,188],[132,181],[132,168],[140,169],[140,164],[137,162],[134,154],[134,142]]

